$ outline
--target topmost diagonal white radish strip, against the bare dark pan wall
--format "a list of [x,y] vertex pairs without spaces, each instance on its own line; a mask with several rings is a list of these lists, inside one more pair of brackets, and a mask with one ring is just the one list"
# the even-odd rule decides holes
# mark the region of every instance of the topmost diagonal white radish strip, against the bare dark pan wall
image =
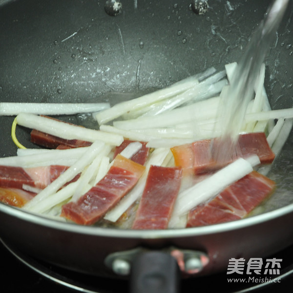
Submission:
[[158,91],[146,94],[142,97],[125,101],[114,105],[113,107],[99,112],[95,118],[97,119],[99,125],[105,124],[128,111],[139,109],[147,105],[162,101],[164,99],[178,95],[179,93],[187,90],[188,88],[194,86],[198,81],[188,80],[186,83],[173,84],[167,88],[160,89]]

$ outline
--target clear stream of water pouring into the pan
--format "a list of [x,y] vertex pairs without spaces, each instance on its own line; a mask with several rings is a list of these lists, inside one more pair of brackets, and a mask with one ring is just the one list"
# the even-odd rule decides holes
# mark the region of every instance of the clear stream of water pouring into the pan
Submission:
[[254,84],[260,68],[273,42],[289,0],[274,0],[264,20],[251,36],[251,40],[236,66],[230,86],[221,94],[219,120],[220,147],[212,144],[212,154],[218,162],[226,161],[237,141],[245,113],[254,93]]

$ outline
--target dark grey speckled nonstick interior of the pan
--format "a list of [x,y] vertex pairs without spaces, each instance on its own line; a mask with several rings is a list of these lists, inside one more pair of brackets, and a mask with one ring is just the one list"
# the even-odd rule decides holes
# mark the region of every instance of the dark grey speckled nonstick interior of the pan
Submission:
[[[196,15],[190,0],[122,0],[121,14],[105,0],[0,1],[0,102],[94,102],[112,105],[214,66],[238,61],[270,1],[210,0]],[[272,108],[293,104],[293,3],[266,59]],[[84,124],[84,116],[70,118]],[[86,123],[89,123],[86,120]],[[16,154],[13,117],[0,117],[0,155]],[[98,127],[90,124],[93,127]],[[17,130],[25,146],[29,130]],[[293,136],[272,168],[279,186],[259,210],[293,202]]]

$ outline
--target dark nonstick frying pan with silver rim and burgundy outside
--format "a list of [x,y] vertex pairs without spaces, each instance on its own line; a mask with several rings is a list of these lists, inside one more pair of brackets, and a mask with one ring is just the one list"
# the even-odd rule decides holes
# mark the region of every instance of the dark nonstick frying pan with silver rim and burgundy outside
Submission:
[[[104,0],[0,1],[0,101],[114,105],[210,66],[223,70],[239,60],[270,3],[210,0],[205,15],[196,15],[189,4],[124,0],[121,13],[111,16]],[[273,109],[293,104],[292,11],[290,2],[266,59]],[[83,115],[59,119],[97,127]],[[1,156],[16,153],[12,121],[0,117]],[[29,130],[18,128],[17,136],[31,146]],[[142,267],[141,255],[148,255],[146,267],[152,255],[145,253],[159,253],[160,261],[179,253],[184,276],[225,271],[230,258],[265,257],[293,243],[292,143],[291,133],[268,174],[276,192],[246,219],[190,229],[117,230],[58,222],[0,204],[0,237],[38,259],[105,277],[128,277],[129,264]]]

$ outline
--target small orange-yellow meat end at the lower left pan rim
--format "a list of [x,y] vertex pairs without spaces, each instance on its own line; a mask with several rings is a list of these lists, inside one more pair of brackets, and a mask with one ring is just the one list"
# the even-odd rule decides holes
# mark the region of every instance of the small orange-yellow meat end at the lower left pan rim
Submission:
[[23,207],[35,195],[35,193],[17,188],[0,188],[0,202],[18,208]]

